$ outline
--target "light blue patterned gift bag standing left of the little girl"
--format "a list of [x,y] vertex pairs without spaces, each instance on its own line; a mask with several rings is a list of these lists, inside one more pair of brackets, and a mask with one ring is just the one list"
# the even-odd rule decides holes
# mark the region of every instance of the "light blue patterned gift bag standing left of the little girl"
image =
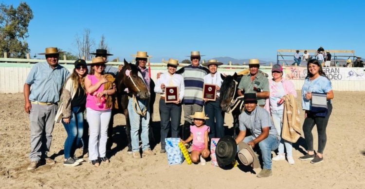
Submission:
[[184,156],[179,147],[180,138],[165,138],[165,142],[168,164],[182,164],[184,161]]

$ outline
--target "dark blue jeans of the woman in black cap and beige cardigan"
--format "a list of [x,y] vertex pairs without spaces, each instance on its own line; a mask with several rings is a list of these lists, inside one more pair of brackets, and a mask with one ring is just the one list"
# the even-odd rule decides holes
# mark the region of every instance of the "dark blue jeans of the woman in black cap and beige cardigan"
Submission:
[[83,144],[82,136],[84,133],[84,113],[80,110],[80,107],[71,107],[70,123],[67,124],[62,120],[63,126],[67,132],[64,146],[65,159],[73,157],[76,148],[80,144]]

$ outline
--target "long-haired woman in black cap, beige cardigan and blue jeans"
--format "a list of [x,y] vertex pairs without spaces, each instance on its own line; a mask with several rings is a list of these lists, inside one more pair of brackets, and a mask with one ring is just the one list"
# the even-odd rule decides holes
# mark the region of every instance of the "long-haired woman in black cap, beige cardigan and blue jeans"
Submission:
[[[74,62],[71,76],[66,80],[61,95],[56,121],[66,129],[67,137],[64,145],[64,166],[77,166],[84,160],[77,158],[74,153],[80,144],[83,144],[84,110],[86,104],[85,77],[88,73],[85,60],[79,59]],[[84,146],[84,145],[83,145]]]

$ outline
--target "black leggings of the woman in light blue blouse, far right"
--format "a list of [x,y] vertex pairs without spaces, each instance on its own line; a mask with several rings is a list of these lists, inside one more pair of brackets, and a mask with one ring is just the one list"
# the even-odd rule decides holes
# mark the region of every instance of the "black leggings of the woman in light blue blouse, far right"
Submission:
[[332,113],[332,104],[327,103],[328,107],[328,114],[326,117],[317,117],[315,113],[311,111],[307,112],[307,118],[304,120],[303,123],[303,132],[304,137],[306,138],[308,151],[313,151],[313,135],[312,129],[314,125],[317,125],[317,132],[318,132],[318,153],[323,154],[325,150],[326,142],[327,142],[327,135],[326,135],[326,127],[329,120],[329,116]]

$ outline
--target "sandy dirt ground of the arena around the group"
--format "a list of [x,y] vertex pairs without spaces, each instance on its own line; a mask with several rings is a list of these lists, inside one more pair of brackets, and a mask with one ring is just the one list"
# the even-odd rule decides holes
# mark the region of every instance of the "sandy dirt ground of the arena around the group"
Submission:
[[[295,164],[290,165],[287,161],[273,162],[273,176],[264,179],[256,178],[261,169],[250,170],[242,166],[221,169],[210,165],[210,162],[205,166],[187,165],[186,162],[169,166],[166,154],[159,153],[160,143],[154,145],[157,153],[155,156],[133,159],[127,154],[123,115],[115,116],[115,143],[109,154],[109,164],[102,163],[99,168],[95,168],[84,162],[80,166],[64,167],[62,161],[66,131],[62,124],[56,123],[50,155],[57,163],[27,171],[30,127],[29,116],[23,108],[23,94],[1,94],[0,188],[364,189],[364,94],[334,92],[324,162],[313,165],[309,161],[300,161],[298,157],[305,154],[305,141],[300,138],[293,149]],[[158,137],[160,118],[157,105],[158,101],[154,104],[153,128]],[[300,117],[303,123],[303,111]],[[226,115],[225,125],[231,127],[230,115]],[[317,149],[316,128],[313,129],[313,136],[314,149]]]

